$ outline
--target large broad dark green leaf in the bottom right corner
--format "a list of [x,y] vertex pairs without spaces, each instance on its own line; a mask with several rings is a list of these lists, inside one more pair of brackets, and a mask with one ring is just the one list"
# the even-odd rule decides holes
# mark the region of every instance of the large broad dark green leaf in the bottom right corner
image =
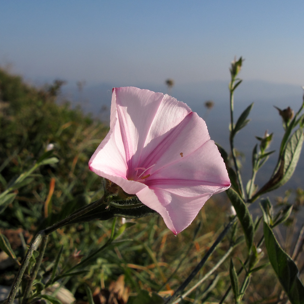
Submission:
[[299,270],[288,254],[280,247],[274,234],[264,222],[265,245],[268,258],[292,304],[304,303],[304,286],[299,280]]

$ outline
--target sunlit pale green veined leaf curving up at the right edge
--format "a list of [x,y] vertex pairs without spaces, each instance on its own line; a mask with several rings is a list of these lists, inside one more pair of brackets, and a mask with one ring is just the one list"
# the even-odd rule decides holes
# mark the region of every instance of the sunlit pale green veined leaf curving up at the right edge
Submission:
[[300,153],[302,150],[304,135],[303,130],[298,129],[295,133],[292,134],[282,157],[278,161],[278,164],[275,168],[274,173],[270,180],[254,195],[254,198],[257,199],[261,194],[272,191],[276,188],[284,185],[291,177],[295,171],[295,167],[299,161]]

